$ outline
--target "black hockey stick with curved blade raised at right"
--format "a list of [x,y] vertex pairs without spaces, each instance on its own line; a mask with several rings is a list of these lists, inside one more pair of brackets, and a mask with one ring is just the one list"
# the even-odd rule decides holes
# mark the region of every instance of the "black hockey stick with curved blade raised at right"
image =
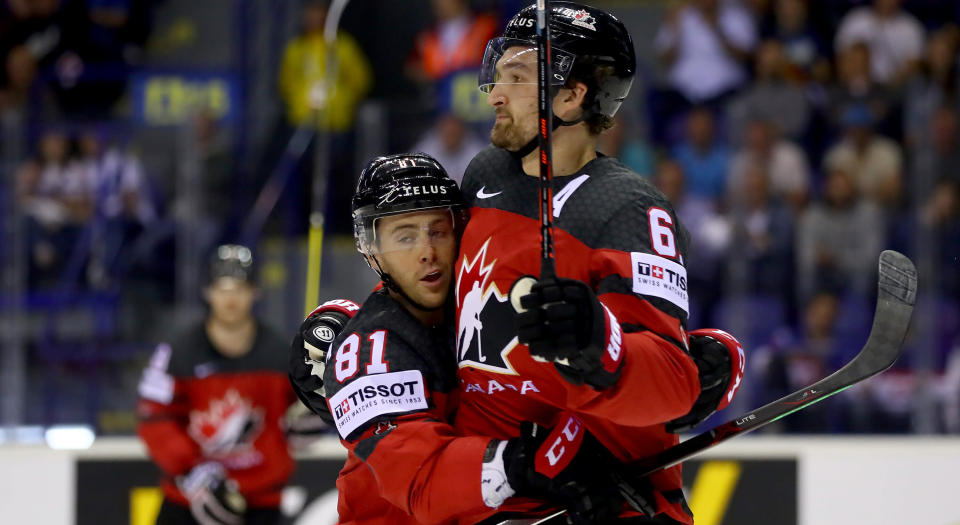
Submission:
[[[671,467],[734,436],[752,432],[774,421],[789,416],[814,403],[839,394],[851,386],[890,368],[900,355],[900,348],[910,326],[910,317],[917,298],[917,269],[905,255],[886,250],[880,254],[877,309],[873,316],[870,336],[849,363],[820,381],[764,405],[741,417],[694,436],[632,463],[623,465],[614,473],[620,492],[634,505],[641,495],[633,490],[630,479],[653,474]],[[561,523],[565,511],[533,520],[508,520],[501,525],[538,525]]]

